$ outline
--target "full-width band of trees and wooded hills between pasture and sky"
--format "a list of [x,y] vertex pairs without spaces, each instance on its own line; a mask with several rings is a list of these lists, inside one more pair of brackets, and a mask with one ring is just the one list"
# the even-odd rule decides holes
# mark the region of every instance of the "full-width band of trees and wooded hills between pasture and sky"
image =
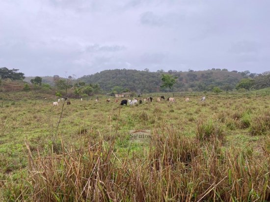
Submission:
[[[24,73],[19,69],[0,68],[0,78],[22,80]],[[1,82],[1,81],[0,81]],[[177,91],[230,91],[233,89],[260,89],[270,87],[270,71],[263,74],[254,74],[249,71],[229,72],[227,69],[211,69],[207,71],[178,72],[158,70],[149,72],[137,70],[105,70],[94,75],[82,76],[74,79],[72,76],[61,78],[53,76],[53,85],[43,82],[42,77],[35,76],[30,82],[36,88],[64,92],[66,89],[75,97],[86,97],[100,93],[151,93]],[[25,89],[30,90],[28,84]]]

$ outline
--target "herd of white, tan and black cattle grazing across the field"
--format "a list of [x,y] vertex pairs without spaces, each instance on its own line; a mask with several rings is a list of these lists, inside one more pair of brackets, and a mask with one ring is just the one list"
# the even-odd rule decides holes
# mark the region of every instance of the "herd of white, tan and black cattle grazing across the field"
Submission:
[[[165,100],[165,97],[164,96],[161,96],[161,97],[157,98],[157,102],[161,102],[162,99]],[[67,105],[70,105],[71,104],[71,101],[68,101],[68,98],[62,98],[61,100],[62,101],[64,101],[64,100],[67,101]],[[82,98],[81,98],[81,101],[82,101]],[[98,99],[95,100],[95,102],[98,102],[98,101],[99,101]],[[153,97],[144,98],[143,101],[144,101],[144,103],[146,101],[152,102],[153,101]],[[130,100],[130,99],[128,99],[128,100],[122,100],[120,104],[121,105],[125,105],[125,104],[128,105],[128,103],[129,103],[129,105],[135,105],[138,102],[139,102],[139,104],[142,104],[143,101],[142,101],[142,99],[139,99],[139,101],[138,101],[138,99],[134,98],[133,100]],[[170,103],[176,103],[175,99],[174,98],[170,98],[170,97],[167,99],[167,101],[169,101]],[[189,101],[189,98],[186,98],[185,101]],[[202,97],[200,101],[205,101],[205,97]],[[58,101],[54,101],[53,102],[53,105],[54,106],[58,106],[58,102],[60,102],[60,99],[58,99]],[[106,102],[110,102],[110,98],[106,99]],[[114,102],[115,103],[118,103],[118,99],[115,99]]]

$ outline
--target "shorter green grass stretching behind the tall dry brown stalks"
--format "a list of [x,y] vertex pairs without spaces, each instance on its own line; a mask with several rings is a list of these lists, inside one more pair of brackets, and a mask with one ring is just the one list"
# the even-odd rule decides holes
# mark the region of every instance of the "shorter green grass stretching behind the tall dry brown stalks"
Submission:
[[[93,142],[99,142],[101,139],[104,141],[102,143],[104,147],[111,145],[112,148],[106,150],[106,152],[98,149],[98,155],[102,156],[104,154],[99,152],[105,152],[106,155],[110,156],[109,159],[117,159],[115,163],[120,167],[122,167],[125,161],[129,162],[129,160],[132,160],[132,162],[142,163],[142,159],[147,159],[148,162],[148,160],[155,158],[162,159],[162,162],[165,164],[160,164],[159,166],[162,166],[164,169],[166,168],[166,163],[170,165],[170,162],[175,162],[174,166],[178,167],[180,166],[178,162],[179,159],[185,159],[184,161],[181,160],[185,165],[187,162],[191,161],[192,156],[199,159],[205,155],[202,161],[212,159],[212,157],[209,156],[212,152],[211,150],[219,153],[218,158],[227,159],[229,157],[225,157],[224,155],[228,155],[231,151],[235,150],[241,155],[242,153],[245,155],[244,152],[250,154],[250,151],[252,151],[252,155],[261,156],[262,161],[269,159],[269,153],[266,152],[268,151],[269,145],[262,143],[268,143],[265,141],[265,138],[270,135],[268,118],[263,116],[267,111],[270,111],[270,96],[209,94],[206,96],[205,102],[200,102],[200,95],[185,94],[185,96],[175,97],[177,103],[174,104],[170,104],[164,100],[158,103],[156,101],[157,97],[154,97],[153,102],[147,102],[137,106],[120,106],[119,103],[114,103],[113,101],[107,103],[105,97],[101,97],[98,103],[95,103],[94,98],[89,101],[70,99],[71,105],[64,105],[63,115],[57,133],[55,132],[61,113],[61,104],[59,106],[53,106],[52,101],[56,101],[56,98],[53,99],[52,96],[50,100],[48,99],[47,101],[43,99],[30,100],[29,98],[33,95],[29,93],[29,97],[24,100],[19,99],[20,96],[21,94],[19,93],[14,95],[9,93],[9,97],[5,97],[3,107],[0,108],[0,179],[2,180],[0,185],[5,184],[5,190],[7,187],[10,188],[8,182],[11,183],[11,178],[15,180],[12,181],[13,183],[19,183],[22,178],[21,175],[29,179],[29,176],[25,173],[27,168],[31,167],[28,163],[29,152],[32,155],[31,158],[36,159],[39,155],[50,156],[74,151],[78,148],[87,148],[89,141],[93,144]],[[44,97],[42,94],[38,96],[40,98]],[[185,102],[186,97],[189,97],[189,102]],[[14,98],[16,98],[15,102]],[[129,141],[129,130],[131,129],[151,129],[153,133],[159,136],[158,140],[161,142],[156,146],[155,151],[152,151],[147,144],[131,143]],[[198,137],[197,139],[196,135]],[[215,135],[217,135],[218,140],[222,140],[221,145],[216,143],[215,147],[210,146],[209,149],[209,145],[201,144],[205,139],[211,143]],[[55,143],[52,141],[54,136],[56,140]],[[166,139],[167,137],[169,138]],[[184,141],[185,144],[183,143],[183,145],[181,141]],[[190,147],[190,143],[192,143],[194,147]],[[205,148],[205,150],[203,148]],[[107,153],[107,151],[109,152]],[[113,152],[113,154],[110,152]],[[164,160],[165,156],[162,156],[162,153],[165,156],[167,155],[169,159]],[[85,154],[83,158],[88,159],[88,155],[90,154]],[[114,157],[111,157],[111,155]],[[151,155],[156,155],[156,157],[151,157]],[[263,158],[263,156],[265,157]],[[80,161],[79,156],[74,157],[78,157],[78,161]],[[234,162],[236,167],[239,166],[238,164],[240,163],[245,163],[243,159],[239,159],[241,156],[233,155],[232,158],[238,159]],[[250,159],[252,158],[253,157],[250,157]],[[227,160],[229,161],[229,159]],[[251,161],[252,160],[250,160],[250,162]],[[111,163],[107,160],[106,162]],[[269,163],[269,160],[266,162]],[[50,163],[54,164],[55,168],[63,166],[63,162],[59,165],[56,161]],[[255,163],[255,161],[253,163]],[[262,162],[260,162],[260,164],[261,163]],[[221,166],[221,164],[222,161],[216,166]],[[131,167],[128,169],[134,169],[134,172],[139,172],[139,170],[136,170],[138,167],[136,167],[135,164],[133,165],[131,163],[130,165]],[[113,167],[113,165],[111,166]],[[210,165],[202,164],[200,169],[205,169],[207,166]],[[229,164],[227,166],[229,168]],[[252,164],[248,166],[252,166]],[[43,168],[43,165],[40,164],[39,168]],[[220,168],[225,169],[225,167]],[[232,169],[233,168],[234,167],[232,167]],[[141,169],[146,169],[146,167],[142,167]],[[181,169],[179,167],[179,171]],[[199,173],[203,172],[199,168],[196,169]],[[257,171],[257,167],[254,169],[254,172]],[[146,171],[143,172],[151,176],[151,174]],[[224,172],[227,173],[229,171],[224,170]],[[236,173],[236,171],[231,172],[232,174]],[[227,174],[229,175],[229,173]],[[122,174],[117,174],[116,172],[114,175],[121,176]],[[170,175],[171,173],[169,172],[168,176]],[[177,177],[181,178],[181,175],[177,173]],[[191,173],[189,175],[191,177]],[[221,177],[218,179],[222,180],[223,175],[218,175]],[[194,174],[194,177],[195,176]],[[163,190],[163,186],[169,186],[167,183],[170,183],[169,178],[166,176],[162,177],[164,182],[157,182],[157,186],[160,186],[161,190]],[[235,180],[236,179],[237,177],[235,176]],[[36,178],[35,180],[40,179]],[[146,178],[142,178],[141,180],[146,180]],[[205,179],[202,178],[202,181],[203,180],[208,179],[206,177]],[[226,180],[224,179],[222,184],[225,183],[225,181],[226,183],[233,183],[232,181],[228,182],[228,180],[227,178]],[[179,192],[192,193],[190,199],[198,200],[199,196],[202,197],[202,193],[200,191],[196,193],[194,189],[197,187],[196,189],[199,190],[199,185],[188,184],[188,181],[190,180],[187,178],[187,181],[179,182],[183,183],[182,185],[177,182],[173,183],[176,183],[174,186],[185,187],[185,189],[181,189],[181,191],[178,190]],[[195,182],[196,180],[194,183]],[[199,181],[197,182],[199,183]],[[208,182],[213,183],[214,181],[210,180]],[[223,188],[226,187],[226,183],[222,185]],[[7,184],[9,185],[7,186]],[[30,186],[24,186],[28,187],[27,190],[29,190],[29,192],[27,196],[30,196],[30,193],[34,191],[30,189]],[[18,191],[19,188],[16,188],[15,185],[12,187],[10,193],[7,195],[17,196],[17,192],[22,193]],[[208,187],[205,188],[207,189]],[[176,190],[177,189],[173,188],[171,194]],[[153,192],[153,194],[159,194],[158,189],[156,191],[157,192]],[[254,191],[255,190],[250,191],[250,195],[255,196],[258,194]],[[56,192],[57,190],[55,190],[55,193]],[[222,190],[216,193],[221,194]],[[237,196],[236,193],[237,192],[234,193],[234,196]],[[214,195],[211,196],[213,197]],[[55,196],[55,199],[57,197]],[[74,196],[73,199],[76,197],[78,196]],[[173,195],[167,195],[166,197],[167,199],[173,198]],[[161,199],[164,200],[164,198]],[[216,199],[218,199],[217,195]],[[15,198],[10,198],[10,200],[15,201]]]

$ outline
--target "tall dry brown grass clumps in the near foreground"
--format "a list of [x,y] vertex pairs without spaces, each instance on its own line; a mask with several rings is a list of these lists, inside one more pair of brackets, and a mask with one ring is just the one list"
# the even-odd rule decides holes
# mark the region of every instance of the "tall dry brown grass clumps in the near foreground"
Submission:
[[[199,127],[199,126],[198,126]],[[144,157],[119,158],[103,137],[62,154],[32,157],[28,175],[5,183],[6,201],[264,201],[270,200],[270,153],[188,138],[166,126]],[[113,138],[112,138],[113,139]],[[218,146],[218,147],[217,147]],[[265,147],[266,148],[266,147]]]

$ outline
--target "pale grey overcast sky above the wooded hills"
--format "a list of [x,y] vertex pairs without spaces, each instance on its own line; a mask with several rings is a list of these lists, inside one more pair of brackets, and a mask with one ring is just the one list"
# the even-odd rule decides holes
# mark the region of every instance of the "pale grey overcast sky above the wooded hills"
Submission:
[[0,0],[0,67],[270,70],[270,0]]

